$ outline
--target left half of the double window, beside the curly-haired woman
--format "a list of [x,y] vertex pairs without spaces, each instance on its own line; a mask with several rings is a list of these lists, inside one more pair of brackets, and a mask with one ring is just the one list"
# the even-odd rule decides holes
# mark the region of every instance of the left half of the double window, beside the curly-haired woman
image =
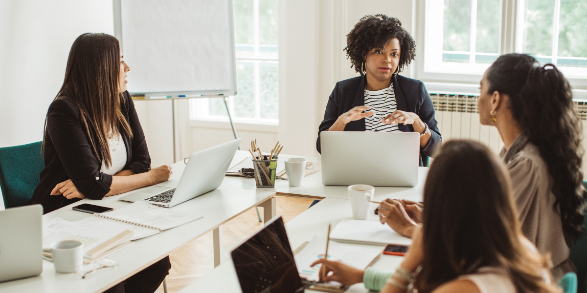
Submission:
[[501,0],[430,0],[425,69],[483,73],[500,51]]

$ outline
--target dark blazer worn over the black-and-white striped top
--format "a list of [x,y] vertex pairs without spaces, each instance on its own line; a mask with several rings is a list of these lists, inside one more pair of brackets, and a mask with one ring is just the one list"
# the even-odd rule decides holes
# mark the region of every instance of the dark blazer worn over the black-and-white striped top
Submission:
[[[324,120],[318,128],[318,139],[316,140],[318,152],[321,152],[320,133],[328,131],[340,115],[354,107],[365,105],[365,83],[365,76],[357,76],[336,83],[328,99],[328,104],[326,104]],[[432,156],[434,150],[442,144],[438,122],[434,118],[432,100],[424,83],[420,80],[398,75],[393,78],[393,90],[396,95],[397,110],[416,113],[422,121],[428,124],[431,132],[430,141],[425,148],[420,149],[420,166],[423,166],[422,156]],[[414,128],[412,125],[399,124],[399,130],[413,132]],[[345,131],[365,131],[365,118],[350,121],[346,124]]]

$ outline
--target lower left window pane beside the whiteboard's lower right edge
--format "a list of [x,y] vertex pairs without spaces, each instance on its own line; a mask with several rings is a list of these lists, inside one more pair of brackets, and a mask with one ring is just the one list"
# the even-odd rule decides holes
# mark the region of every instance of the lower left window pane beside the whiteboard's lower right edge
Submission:
[[237,62],[238,94],[232,97],[235,118],[255,118],[254,71],[254,63]]

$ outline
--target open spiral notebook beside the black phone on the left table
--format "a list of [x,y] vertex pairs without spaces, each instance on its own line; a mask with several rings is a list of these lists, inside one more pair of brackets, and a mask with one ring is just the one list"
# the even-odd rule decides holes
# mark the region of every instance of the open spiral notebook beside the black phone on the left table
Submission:
[[106,213],[95,213],[93,217],[77,221],[91,223],[107,229],[124,229],[134,232],[129,240],[137,240],[161,233],[161,231],[181,226],[200,219],[202,216],[185,213],[145,202],[134,202],[128,206]]

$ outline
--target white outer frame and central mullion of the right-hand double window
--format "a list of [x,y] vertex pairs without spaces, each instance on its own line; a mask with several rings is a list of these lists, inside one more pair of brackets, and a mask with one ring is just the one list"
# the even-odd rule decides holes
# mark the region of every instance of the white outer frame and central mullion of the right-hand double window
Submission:
[[[426,13],[429,13],[426,9],[430,1],[438,0],[416,0],[415,14],[416,30],[413,32],[416,35],[416,44],[419,47],[423,47],[424,54],[421,56],[417,55],[414,60],[412,67],[412,77],[424,81],[424,83],[430,84],[432,89],[436,88],[442,83],[463,83],[455,84],[455,90],[461,92],[470,92],[470,83],[478,84],[483,74],[461,74],[461,73],[441,73],[441,72],[426,72],[424,59],[426,57],[427,50],[430,46],[426,44]],[[521,42],[523,36],[523,28],[519,25],[519,18],[523,18],[524,9],[521,5],[527,0],[501,0],[501,27],[500,27],[500,55],[507,53],[515,53],[521,50]],[[556,0],[557,3],[560,0]],[[558,24],[557,26],[558,27]],[[558,35],[558,32],[556,32]],[[563,71],[565,73],[565,71]],[[566,73],[565,73],[566,74]],[[587,89],[587,77],[567,77],[569,83],[573,88],[585,90]],[[429,88],[430,90],[430,88]],[[477,90],[478,92],[478,90]]]

